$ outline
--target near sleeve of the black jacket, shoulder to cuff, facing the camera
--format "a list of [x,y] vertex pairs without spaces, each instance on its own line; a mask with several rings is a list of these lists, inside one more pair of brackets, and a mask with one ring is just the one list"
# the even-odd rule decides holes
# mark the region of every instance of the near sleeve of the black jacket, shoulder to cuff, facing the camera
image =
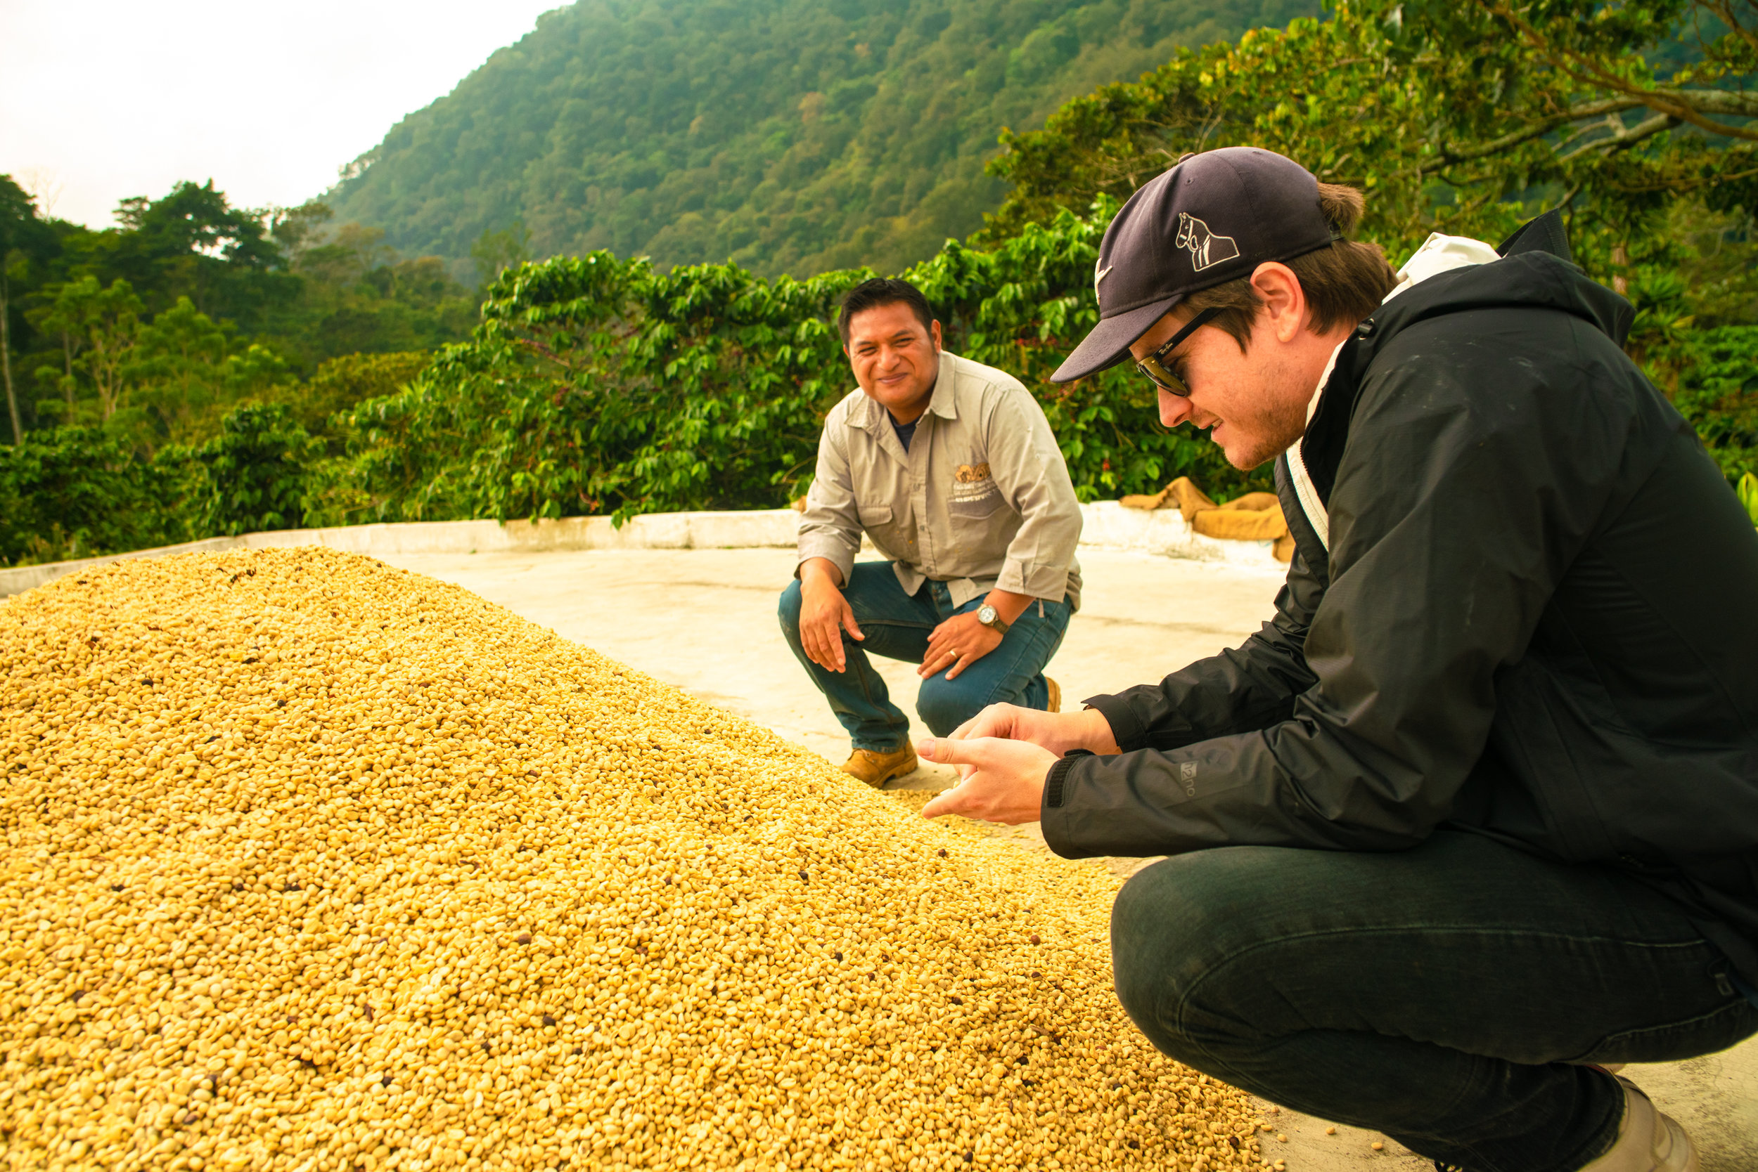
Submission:
[[[1630,427],[1570,369],[1566,329],[1545,332],[1549,351],[1524,353],[1512,322],[1503,337],[1454,334],[1464,336],[1406,330],[1405,358],[1382,355],[1389,369],[1361,383],[1329,501],[1331,582],[1303,647],[1311,687],[1259,729],[1058,761],[1044,785],[1051,849],[1391,850],[1447,821],[1489,738],[1496,675],[1524,654],[1596,524]],[[1264,668],[1232,661],[1199,664],[1197,676],[1234,671],[1248,691],[1264,687]],[[1188,724],[1202,726],[1204,696],[1162,685],[1164,699],[1139,708],[1153,717],[1150,743],[1181,734],[1160,703],[1190,699]]]

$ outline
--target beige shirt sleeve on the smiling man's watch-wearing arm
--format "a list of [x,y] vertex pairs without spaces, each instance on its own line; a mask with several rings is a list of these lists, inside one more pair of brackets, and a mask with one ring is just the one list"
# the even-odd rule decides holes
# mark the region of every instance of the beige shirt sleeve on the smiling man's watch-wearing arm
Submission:
[[1050,420],[1032,394],[1018,388],[995,397],[984,430],[995,488],[1021,517],[995,585],[1062,601],[1081,539],[1081,503]]

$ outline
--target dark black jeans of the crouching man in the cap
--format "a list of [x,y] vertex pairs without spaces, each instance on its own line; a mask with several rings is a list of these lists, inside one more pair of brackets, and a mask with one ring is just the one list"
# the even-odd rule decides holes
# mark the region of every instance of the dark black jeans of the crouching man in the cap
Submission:
[[1579,1063],[1758,1033],[1677,903],[1466,833],[1171,857],[1118,894],[1111,951],[1118,998],[1164,1053],[1470,1172],[1605,1153],[1623,1093]]

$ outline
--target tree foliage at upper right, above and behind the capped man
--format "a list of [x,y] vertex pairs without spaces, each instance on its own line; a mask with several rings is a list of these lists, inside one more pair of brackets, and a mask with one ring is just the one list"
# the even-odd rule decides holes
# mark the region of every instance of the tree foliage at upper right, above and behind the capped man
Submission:
[[1561,206],[1575,258],[1637,306],[1631,355],[1732,476],[1758,466],[1754,26],[1749,4],[1350,0],[1004,135],[990,170],[1014,186],[976,239],[1231,144],[1364,190],[1362,237],[1394,264]]

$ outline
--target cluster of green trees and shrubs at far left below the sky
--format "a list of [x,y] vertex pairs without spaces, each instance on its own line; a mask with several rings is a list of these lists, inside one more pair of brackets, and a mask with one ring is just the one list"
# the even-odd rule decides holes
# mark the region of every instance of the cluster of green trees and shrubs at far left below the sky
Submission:
[[329,220],[185,183],[93,232],[0,176],[0,564],[301,522],[332,416],[476,320],[436,258]]

